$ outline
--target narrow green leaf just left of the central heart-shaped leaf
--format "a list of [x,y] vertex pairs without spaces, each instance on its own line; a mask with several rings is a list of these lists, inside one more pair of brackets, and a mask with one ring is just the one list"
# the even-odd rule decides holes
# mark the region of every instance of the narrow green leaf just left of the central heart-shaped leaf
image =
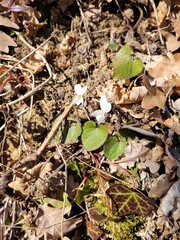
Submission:
[[78,137],[81,135],[81,123],[78,121],[73,123],[72,126],[69,128],[67,137],[65,140],[65,144],[75,143]]

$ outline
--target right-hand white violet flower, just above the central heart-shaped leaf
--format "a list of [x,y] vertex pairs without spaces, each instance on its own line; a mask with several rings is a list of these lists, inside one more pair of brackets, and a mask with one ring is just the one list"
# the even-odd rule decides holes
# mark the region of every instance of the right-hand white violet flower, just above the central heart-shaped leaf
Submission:
[[106,96],[102,96],[100,99],[101,110],[96,110],[91,113],[92,117],[95,117],[98,124],[104,122],[106,113],[111,111],[111,103],[107,101]]

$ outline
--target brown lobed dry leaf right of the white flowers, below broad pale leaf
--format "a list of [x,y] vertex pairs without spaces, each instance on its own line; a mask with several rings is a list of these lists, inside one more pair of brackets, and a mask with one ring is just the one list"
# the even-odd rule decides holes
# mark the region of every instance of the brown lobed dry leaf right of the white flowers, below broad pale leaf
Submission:
[[165,102],[165,94],[157,88],[155,95],[152,95],[150,92],[148,92],[147,95],[144,96],[141,106],[146,110],[154,107],[159,107],[160,109],[165,110]]

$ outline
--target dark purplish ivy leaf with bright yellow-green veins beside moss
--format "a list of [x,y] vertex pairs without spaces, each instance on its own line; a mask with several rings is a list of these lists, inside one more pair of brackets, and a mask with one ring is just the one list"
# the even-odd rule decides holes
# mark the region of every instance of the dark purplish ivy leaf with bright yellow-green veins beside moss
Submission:
[[146,217],[156,211],[150,198],[123,184],[113,184],[106,192],[112,200],[113,212],[119,216],[137,214]]

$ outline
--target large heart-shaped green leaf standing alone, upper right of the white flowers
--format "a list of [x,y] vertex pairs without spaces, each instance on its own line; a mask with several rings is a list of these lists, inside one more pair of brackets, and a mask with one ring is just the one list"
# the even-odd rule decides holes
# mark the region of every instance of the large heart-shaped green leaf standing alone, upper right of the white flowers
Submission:
[[114,78],[129,79],[139,74],[143,69],[141,59],[131,58],[131,48],[124,45],[113,59]]

